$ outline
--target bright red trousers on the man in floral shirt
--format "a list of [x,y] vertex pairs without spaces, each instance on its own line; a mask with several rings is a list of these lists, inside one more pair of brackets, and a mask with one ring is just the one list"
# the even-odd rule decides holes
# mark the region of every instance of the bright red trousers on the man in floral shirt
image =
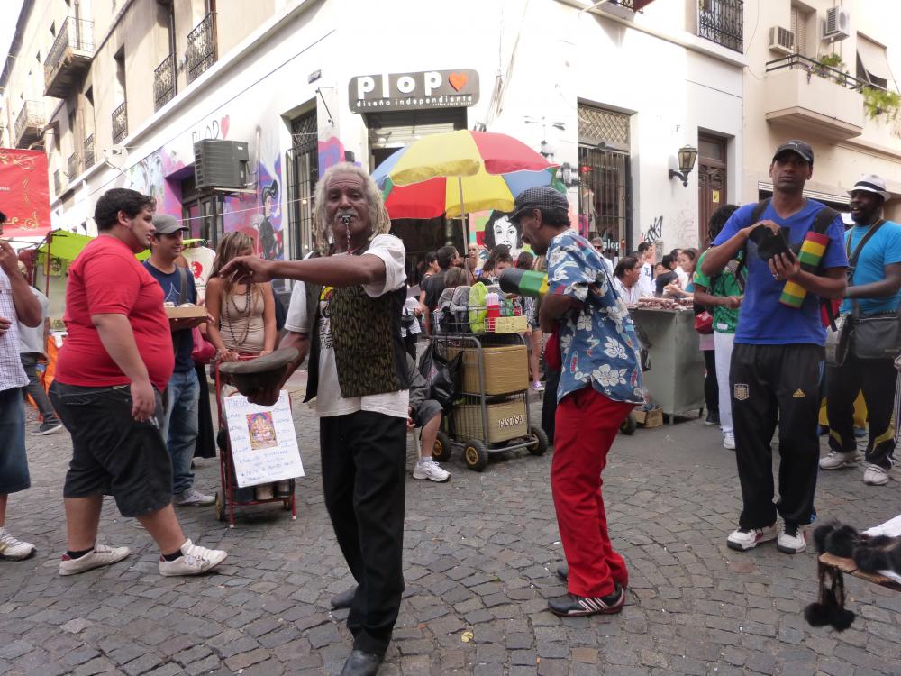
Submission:
[[613,401],[588,385],[557,405],[551,494],[560,541],[569,563],[569,593],[612,594],[614,581],[629,582],[623,557],[607,534],[601,472],[616,433],[634,404]]

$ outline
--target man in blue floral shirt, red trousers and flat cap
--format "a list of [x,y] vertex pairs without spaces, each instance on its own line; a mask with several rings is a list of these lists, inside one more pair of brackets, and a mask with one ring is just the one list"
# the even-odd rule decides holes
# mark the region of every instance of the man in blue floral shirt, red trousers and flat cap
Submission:
[[600,254],[569,229],[566,196],[550,187],[523,190],[510,220],[522,226],[523,242],[547,254],[539,322],[560,345],[551,493],[569,594],[548,607],[560,616],[618,613],[629,573],[607,534],[601,472],[619,426],[644,400],[638,341]]

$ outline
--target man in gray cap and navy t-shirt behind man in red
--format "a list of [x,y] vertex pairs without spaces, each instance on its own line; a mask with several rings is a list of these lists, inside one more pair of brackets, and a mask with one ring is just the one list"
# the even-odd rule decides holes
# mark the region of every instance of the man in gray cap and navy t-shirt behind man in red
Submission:
[[[180,306],[196,303],[194,275],[177,265],[183,249],[182,238],[187,225],[168,214],[153,216],[155,232],[150,236],[150,259],[144,267],[163,289],[164,302]],[[198,407],[200,383],[194,368],[191,351],[194,340],[191,329],[204,319],[170,319],[172,345],[175,350],[175,370],[166,388],[166,417],[163,436],[172,459],[172,504],[175,506],[212,505],[214,496],[194,488],[191,461],[199,430]]]

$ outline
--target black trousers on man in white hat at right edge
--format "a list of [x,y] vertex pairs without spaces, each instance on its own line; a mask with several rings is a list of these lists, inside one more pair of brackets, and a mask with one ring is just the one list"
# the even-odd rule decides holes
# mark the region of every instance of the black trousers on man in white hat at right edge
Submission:
[[857,449],[854,438],[854,399],[863,391],[867,404],[869,442],[866,461],[891,469],[895,453],[895,404],[897,371],[890,359],[856,359],[851,354],[840,367],[826,369],[826,415],[829,417],[829,447],[833,451]]

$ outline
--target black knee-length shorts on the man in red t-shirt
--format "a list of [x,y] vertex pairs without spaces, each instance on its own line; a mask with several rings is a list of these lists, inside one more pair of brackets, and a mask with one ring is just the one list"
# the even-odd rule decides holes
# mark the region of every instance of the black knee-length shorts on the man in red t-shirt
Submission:
[[154,394],[153,416],[139,423],[132,417],[128,385],[53,382],[50,399],[72,434],[64,498],[112,495],[122,516],[150,514],[172,502],[172,461],[160,432],[163,406]]

